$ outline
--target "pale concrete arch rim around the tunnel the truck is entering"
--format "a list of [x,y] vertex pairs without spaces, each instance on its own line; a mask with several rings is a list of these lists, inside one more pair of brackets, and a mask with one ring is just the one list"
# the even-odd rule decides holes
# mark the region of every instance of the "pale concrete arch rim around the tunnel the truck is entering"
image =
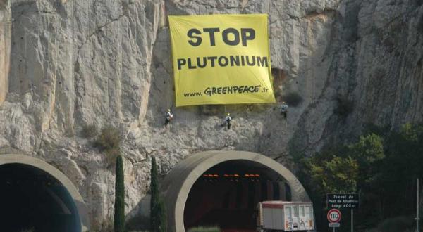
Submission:
[[273,170],[288,183],[293,201],[311,202],[300,181],[280,163],[258,153],[235,150],[212,150],[196,153],[181,161],[169,172],[162,185],[161,193],[166,203],[169,231],[183,232],[185,202],[195,181],[215,165],[223,162],[245,160]]

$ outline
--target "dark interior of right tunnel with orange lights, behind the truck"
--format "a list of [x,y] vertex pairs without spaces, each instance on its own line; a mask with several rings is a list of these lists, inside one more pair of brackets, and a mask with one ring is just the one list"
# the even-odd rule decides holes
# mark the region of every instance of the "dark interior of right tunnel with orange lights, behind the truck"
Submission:
[[290,187],[281,175],[258,162],[222,162],[192,186],[184,209],[185,231],[199,226],[255,231],[255,209],[264,200],[291,200]]

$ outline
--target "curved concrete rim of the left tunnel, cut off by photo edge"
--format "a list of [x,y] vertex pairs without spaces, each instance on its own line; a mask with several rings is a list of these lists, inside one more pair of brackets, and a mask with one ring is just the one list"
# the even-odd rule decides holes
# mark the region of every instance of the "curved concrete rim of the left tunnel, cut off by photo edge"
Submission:
[[35,157],[30,157],[28,155],[20,155],[20,154],[4,154],[0,155],[0,168],[2,165],[27,165],[30,167],[35,167],[36,169],[42,170],[42,172],[46,172],[50,176],[54,177],[64,188],[68,191],[69,195],[75,204],[76,210],[78,212],[78,231],[89,231],[90,230],[90,218],[88,215],[87,206],[85,205],[82,196],[78,192],[78,188],[72,183],[68,177],[63,174],[59,169],[49,165],[47,162],[39,160]]

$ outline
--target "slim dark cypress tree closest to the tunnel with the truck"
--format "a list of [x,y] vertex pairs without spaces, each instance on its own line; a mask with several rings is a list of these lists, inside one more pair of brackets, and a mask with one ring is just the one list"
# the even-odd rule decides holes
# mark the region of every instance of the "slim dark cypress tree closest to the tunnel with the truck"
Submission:
[[152,157],[152,169],[150,172],[151,183],[150,193],[152,198],[150,200],[150,226],[152,231],[158,231],[160,225],[160,212],[159,212],[159,179],[157,174],[156,159]]

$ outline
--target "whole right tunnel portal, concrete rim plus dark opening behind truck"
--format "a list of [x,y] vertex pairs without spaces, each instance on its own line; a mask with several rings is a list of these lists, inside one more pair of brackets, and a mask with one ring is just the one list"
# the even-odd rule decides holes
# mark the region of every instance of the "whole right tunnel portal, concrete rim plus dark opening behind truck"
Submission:
[[190,155],[161,186],[169,231],[219,226],[255,231],[255,208],[263,200],[310,202],[300,181],[269,157],[245,151]]

